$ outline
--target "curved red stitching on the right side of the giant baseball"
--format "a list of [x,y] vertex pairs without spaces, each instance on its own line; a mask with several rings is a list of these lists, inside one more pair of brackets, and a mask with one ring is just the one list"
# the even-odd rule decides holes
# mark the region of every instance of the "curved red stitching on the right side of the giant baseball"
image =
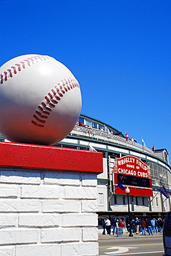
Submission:
[[[61,100],[59,95],[61,97],[63,97],[63,94],[66,93],[66,91],[68,91],[70,89],[74,89],[74,87],[79,87],[79,83],[77,82],[77,80],[75,80],[74,77],[73,78],[72,77],[68,77],[65,80],[61,80],[61,82],[58,83],[58,85],[55,85],[54,88],[52,88],[51,91],[48,92],[48,95],[45,96],[45,100],[47,100],[48,103],[45,103],[43,101],[38,106],[38,108],[41,109],[42,113],[44,113],[44,115],[41,114],[40,118],[46,118],[46,120],[47,120],[48,116],[50,115],[49,111],[52,111],[51,107],[52,108],[56,107],[56,104],[58,104],[59,100]],[[57,93],[58,93],[58,95],[57,95]],[[48,96],[50,98],[48,98]],[[48,110],[48,111],[46,111],[45,109]],[[37,110],[35,111],[35,113],[37,113]],[[45,114],[47,116],[45,116]],[[33,118],[35,120],[37,120],[37,122],[35,122],[35,120],[32,120],[32,124],[33,125],[36,125],[38,127],[44,127],[44,125],[39,125],[39,122],[43,121],[43,123],[45,124],[46,120],[41,120],[35,114],[33,115]]]

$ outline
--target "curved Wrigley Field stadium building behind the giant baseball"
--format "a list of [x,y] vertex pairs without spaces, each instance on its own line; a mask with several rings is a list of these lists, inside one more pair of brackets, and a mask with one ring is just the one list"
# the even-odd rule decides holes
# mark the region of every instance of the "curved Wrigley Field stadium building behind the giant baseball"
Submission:
[[[164,218],[166,212],[171,210],[170,197],[166,198],[160,192],[163,185],[167,194],[171,192],[167,149],[149,149],[133,138],[126,138],[114,127],[83,114],[68,137],[55,146],[103,153],[103,174],[97,176],[99,225],[105,217],[128,217],[128,194],[119,188],[119,184],[130,188],[132,218]],[[137,161],[139,166],[127,163],[128,170],[119,168],[118,173],[114,173],[120,158],[128,162]],[[140,168],[137,172],[139,176],[135,174],[136,168]]]

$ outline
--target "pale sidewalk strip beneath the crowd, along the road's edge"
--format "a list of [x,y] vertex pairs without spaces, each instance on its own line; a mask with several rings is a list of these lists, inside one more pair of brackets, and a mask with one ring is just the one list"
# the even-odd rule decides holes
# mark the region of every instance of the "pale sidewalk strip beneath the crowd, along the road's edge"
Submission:
[[141,235],[140,234],[135,234],[133,233],[133,237],[129,237],[130,233],[124,233],[122,235],[122,237],[117,237],[117,235],[113,235],[111,232],[111,235],[101,235],[99,233],[99,240],[104,240],[104,239],[125,239],[125,238],[129,238],[129,239],[134,239],[134,238],[139,238],[139,239],[143,239],[143,238],[154,238],[154,237],[163,237],[163,233],[157,232],[154,233],[154,235],[148,235],[148,232],[146,232],[146,235]]

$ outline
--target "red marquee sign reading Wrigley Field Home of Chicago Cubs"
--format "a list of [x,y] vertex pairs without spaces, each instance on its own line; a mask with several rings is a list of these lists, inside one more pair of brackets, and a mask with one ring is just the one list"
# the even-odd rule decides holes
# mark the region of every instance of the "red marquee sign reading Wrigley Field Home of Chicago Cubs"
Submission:
[[130,195],[153,196],[148,165],[135,156],[117,158],[114,165],[115,194],[126,194],[125,190],[117,186],[118,183],[130,188]]

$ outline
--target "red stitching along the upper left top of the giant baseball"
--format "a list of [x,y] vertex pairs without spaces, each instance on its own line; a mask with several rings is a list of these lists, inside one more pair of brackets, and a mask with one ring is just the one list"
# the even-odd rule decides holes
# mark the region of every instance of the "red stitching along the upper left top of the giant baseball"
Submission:
[[[13,77],[13,75],[16,75],[19,71],[25,68],[27,66],[32,66],[32,64],[35,64],[35,62],[42,62],[43,60],[50,60],[52,57],[50,56],[42,56],[42,55],[36,55],[29,57],[26,60],[23,60],[17,64],[14,64],[14,66],[10,66],[6,71],[3,71],[3,73],[0,74],[1,80],[0,83],[3,84],[3,82],[6,82],[8,78]],[[12,69],[11,69],[12,68]]]

